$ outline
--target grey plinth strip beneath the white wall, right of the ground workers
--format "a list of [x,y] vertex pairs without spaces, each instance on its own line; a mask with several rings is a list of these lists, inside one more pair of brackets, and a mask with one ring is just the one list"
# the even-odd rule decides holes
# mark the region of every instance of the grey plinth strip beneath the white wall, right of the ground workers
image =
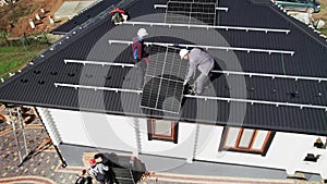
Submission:
[[286,171],[277,170],[277,169],[237,165],[237,164],[227,164],[227,163],[211,163],[211,162],[204,162],[204,161],[193,161],[193,163],[187,163],[183,159],[165,158],[165,157],[146,156],[146,155],[140,155],[140,159],[142,162],[145,163],[146,170],[154,171],[154,172],[167,172],[167,173],[187,174],[187,175],[269,179],[269,180],[287,179]]

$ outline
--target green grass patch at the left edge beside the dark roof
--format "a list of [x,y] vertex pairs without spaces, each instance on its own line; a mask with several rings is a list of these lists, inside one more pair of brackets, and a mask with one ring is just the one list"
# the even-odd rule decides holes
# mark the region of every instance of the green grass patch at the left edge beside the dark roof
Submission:
[[32,45],[24,47],[0,47],[0,77],[4,77],[9,72],[15,73],[24,68],[33,58],[37,56],[46,45]]

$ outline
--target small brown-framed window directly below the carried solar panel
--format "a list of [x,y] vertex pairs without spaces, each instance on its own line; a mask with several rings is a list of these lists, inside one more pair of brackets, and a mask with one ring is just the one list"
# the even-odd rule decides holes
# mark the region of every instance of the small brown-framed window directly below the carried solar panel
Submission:
[[148,140],[158,139],[178,143],[177,122],[150,119],[147,123]]

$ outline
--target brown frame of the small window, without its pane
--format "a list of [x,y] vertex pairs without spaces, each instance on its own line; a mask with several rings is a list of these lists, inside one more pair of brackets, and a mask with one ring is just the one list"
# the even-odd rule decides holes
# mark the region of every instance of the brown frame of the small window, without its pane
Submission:
[[155,123],[156,119],[147,120],[147,133],[148,140],[164,140],[164,142],[172,142],[178,144],[178,132],[179,132],[179,123],[171,121],[171,136],[155,134]]

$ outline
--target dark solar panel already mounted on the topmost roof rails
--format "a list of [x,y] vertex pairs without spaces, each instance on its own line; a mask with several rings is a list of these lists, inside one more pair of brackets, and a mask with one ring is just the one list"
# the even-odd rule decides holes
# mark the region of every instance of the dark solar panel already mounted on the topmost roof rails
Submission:
[[166,23],[216,25],[216,3],[168,2]]

